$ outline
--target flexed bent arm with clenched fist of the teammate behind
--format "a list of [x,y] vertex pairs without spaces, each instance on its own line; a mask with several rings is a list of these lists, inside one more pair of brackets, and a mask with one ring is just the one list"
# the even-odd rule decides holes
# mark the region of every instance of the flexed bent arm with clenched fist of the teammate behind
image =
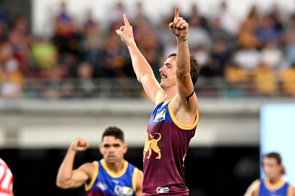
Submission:
[[82,186],[91,179],[95,166],[93,163],[85,163],[73,170],[75,155],[78,151],[85,151],[89,147],[88,142],[77,138],[68,149],[68,152],[59,168],[56,184],[60,188],[76,188]]

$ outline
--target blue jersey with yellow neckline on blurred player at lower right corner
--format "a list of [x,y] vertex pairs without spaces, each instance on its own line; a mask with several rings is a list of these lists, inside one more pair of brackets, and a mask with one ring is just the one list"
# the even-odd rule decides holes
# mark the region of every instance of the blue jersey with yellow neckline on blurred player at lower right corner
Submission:
[[291,196],[292,186],[281,179],[276,185],[271,185],[268,179],[261,180],[259,196]]

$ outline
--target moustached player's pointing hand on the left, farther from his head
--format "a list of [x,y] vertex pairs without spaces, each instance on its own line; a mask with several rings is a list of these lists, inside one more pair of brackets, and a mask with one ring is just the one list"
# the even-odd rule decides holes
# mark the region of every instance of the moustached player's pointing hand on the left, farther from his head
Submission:
[[116,33],[120,36],[121,40],[128,46],[131,43],[135,44],[132,26],[130,26],[126,14],[123,15],[125,26],[121,26],[116,30]]

